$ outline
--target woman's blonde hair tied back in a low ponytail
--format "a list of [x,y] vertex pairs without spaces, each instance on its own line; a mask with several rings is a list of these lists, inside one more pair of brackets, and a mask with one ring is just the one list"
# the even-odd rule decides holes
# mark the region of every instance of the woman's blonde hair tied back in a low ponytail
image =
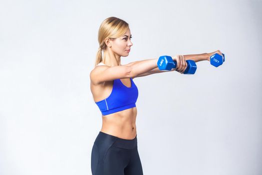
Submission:
[[98,43],[99,48],[96,53],[95,66],[103,60],[102,50],[104,51],[107,47],[105,44],[105,38],[115,39],[125,34],[129,24],[117,17],[108,17],[100,25],[98,30]]

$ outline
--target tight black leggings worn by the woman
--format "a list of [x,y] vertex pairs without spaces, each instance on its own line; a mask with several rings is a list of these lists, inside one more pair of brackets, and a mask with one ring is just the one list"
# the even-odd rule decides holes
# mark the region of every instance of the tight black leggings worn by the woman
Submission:
[[137,135],[123,139],[99,131],[91,153],[92,175],[143,175]]

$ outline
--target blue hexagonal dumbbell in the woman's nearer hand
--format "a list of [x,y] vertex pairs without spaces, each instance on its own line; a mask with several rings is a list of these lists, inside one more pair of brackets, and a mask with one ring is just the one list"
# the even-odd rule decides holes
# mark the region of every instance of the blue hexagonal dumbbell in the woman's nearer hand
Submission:
[[[184,74],[194,74],[197,70],[196,62],[194,60],[186,61],[188,66],[184,71]],[[177,61],[174,61],[171,56],[163,55],[159,57],[157,65],[160,70],[171,70],[172,68],[176,68]]]

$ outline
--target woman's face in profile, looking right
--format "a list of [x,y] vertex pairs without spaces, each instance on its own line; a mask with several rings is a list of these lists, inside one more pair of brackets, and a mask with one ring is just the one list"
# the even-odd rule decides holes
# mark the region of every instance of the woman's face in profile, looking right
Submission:
[[132,35],[130,29],[128,28],[126,33],[122,36],[115,39],[110,39],[109,46],[111,46],[111,50],[119,56],[128,56],[129,52],[131,51],[130,48],[133,45],[131,38]]

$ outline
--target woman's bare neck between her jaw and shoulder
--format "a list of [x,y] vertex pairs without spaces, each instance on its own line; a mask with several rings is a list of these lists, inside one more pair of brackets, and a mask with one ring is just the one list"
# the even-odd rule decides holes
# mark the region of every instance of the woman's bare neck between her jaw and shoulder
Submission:
[[104,50],[102,62],[108,66],[116,66],[121,64],[121,56],[114,53],[110,48]]

